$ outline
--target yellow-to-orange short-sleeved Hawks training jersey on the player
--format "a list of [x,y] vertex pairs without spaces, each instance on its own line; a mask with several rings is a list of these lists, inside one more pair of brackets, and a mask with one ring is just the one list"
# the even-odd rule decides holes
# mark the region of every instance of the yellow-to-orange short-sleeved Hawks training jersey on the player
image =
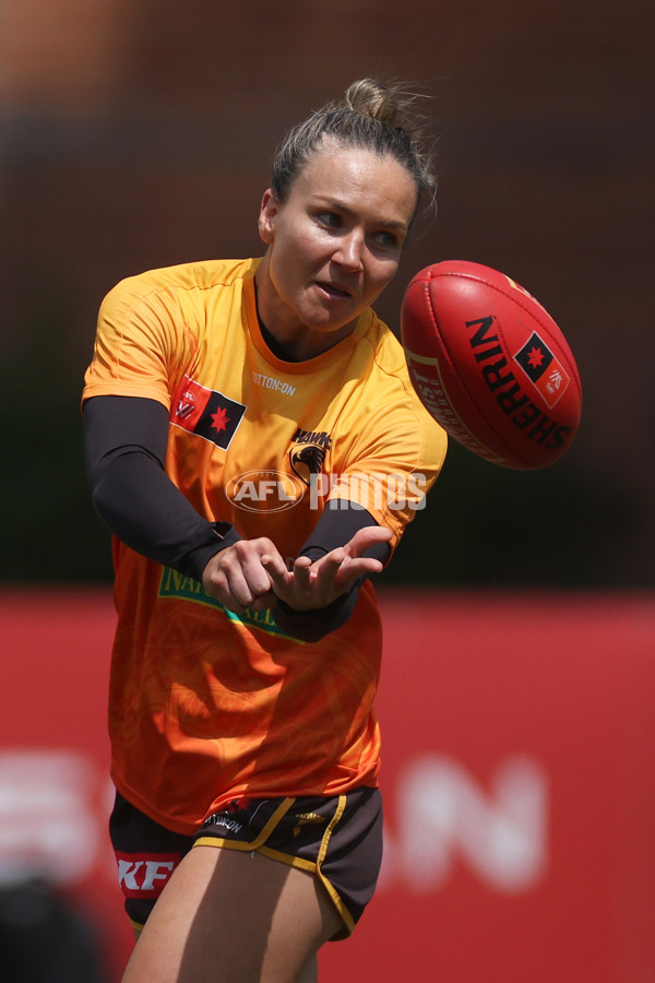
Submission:
[[[327,498],[347,498],[391,529],[395,547],[441,467],[445,435],[372,310],[322,355],[276,358],[257,317],[259,262],[122,281],[100,309],[84,399],[163,403],[170,479],[243,537],[269,536],[295,557]],[[382,641],[370,582],[348,621],[309,644],[271,612],[237,616],[116,540],[115,566],[112,777],[130,802],[189,833],[235,798],[376,784]]]

